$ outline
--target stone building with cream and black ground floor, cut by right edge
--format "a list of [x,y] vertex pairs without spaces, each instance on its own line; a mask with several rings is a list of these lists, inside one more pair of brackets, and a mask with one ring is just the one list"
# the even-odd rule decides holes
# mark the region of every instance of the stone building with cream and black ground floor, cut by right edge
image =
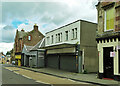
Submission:
[[[103,0],[102,0],[103,1]],[[120,1],[99,2],[97,47],[99,78],[120,80]]]

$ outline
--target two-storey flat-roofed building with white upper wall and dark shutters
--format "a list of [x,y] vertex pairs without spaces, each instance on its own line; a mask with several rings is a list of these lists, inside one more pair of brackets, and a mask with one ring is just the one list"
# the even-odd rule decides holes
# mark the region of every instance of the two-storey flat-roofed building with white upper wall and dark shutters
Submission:
[[46,33],[45,66],[72,72],[97,72],[97,24],[77,20]]

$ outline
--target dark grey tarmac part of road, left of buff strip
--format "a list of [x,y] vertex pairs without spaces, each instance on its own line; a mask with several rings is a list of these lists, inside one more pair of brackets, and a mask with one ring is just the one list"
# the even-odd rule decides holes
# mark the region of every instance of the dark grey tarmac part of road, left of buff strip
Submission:
[[19,86],[20,86],[20,84],[21,84],[21,86],[25,86],[25,85],[28,85],[28,86],[29,85],[51,86],[51,85],[42,84],[40,82],[36,82],[33,79],[28,79],[26,77],[23,77],[22,75],[16,74],[8,69],[5,69],[4,67],[5,66],[3,65],[2,66],[2,86],[6,86],[6,84],[7,84],[7,86],[9,86],[9,85],[16,86],[18,84],[19,84]]

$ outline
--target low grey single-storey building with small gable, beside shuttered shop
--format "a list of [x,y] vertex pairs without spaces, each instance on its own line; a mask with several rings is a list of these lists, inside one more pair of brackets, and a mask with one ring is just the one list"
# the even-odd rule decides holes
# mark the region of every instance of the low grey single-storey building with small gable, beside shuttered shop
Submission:
[[44,67],[45,49],[40,49],[44,45],[44,38],[40,40],[35,46],[24,45],[22,51],[24,59],[22,60],[22,64],[27,67]]

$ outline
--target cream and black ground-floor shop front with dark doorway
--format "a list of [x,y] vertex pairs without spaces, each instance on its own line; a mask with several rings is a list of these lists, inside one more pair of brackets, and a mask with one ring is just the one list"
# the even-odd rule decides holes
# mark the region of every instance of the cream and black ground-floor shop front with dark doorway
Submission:
[[98,38],[98,77],[120,80],[120,38]]

